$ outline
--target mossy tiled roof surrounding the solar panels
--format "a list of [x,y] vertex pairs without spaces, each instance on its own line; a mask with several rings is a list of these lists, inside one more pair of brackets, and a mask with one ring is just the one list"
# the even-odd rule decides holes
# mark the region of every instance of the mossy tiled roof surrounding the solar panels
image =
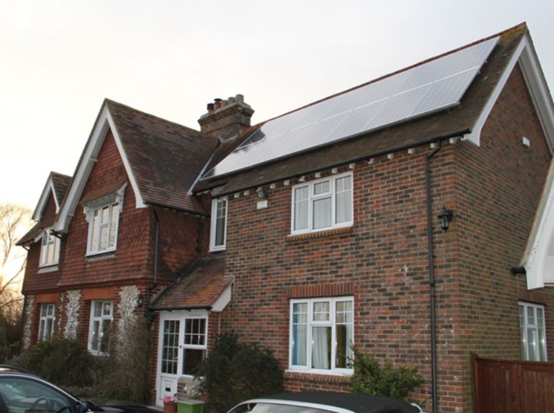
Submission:
[[[446,111],[439,111],[422,118],[401,122],[377,131],[370,131],[368,134],[356,138],[342,140],[325,147],[319,147],[311,152],[292,155],[282,160],[266,163],[265,165],[254,166],[251,169],[242,170],[228,176],[202,178],[195,185],[195,192],[220,187],[220,194],[232,194],[283,179],[318,172],[322,169],[346,165],[355,160],[381,156],[408,147],[427,145],[431,141],[438,140],[438,138],[467,134],[474,127],[483,107],[487,104],[494,87],[501,79],[504,69],[510,62],[526,31],[526,25],[521,24],[487,38],[500,36],[499,44],[494,48],[488,61],[476,76],[469,89],[467,89],[461,99],[461,103],[457,107]],[[465,47],[469,46],[472,45]],[[456,51],[458,50],[460,49],[456,49]],[[454,53],[454,51],[449,53]],[[425,62],[429,62],[429,60]],[[412,67],[414,66],[410,68]],[[391,73],[391,75],[395,73]],[[365,86],[366,84],[357,87]],[[349,89],[349,91],[351,90]],[[348,91],[343,93],[348,93]],[[259,127],[260,125],[257,126]],[[256,127],[252,129],[255,130]],[[251,134],[252,130],[247,131],[240,141],[248,138]],[[239,143],[235,143],[234,146],[236,147]],[[231,149],[233,148],[227,147],[219,150],[229,153]],[[217,156],[217,158],[220,157],[221,155]]]

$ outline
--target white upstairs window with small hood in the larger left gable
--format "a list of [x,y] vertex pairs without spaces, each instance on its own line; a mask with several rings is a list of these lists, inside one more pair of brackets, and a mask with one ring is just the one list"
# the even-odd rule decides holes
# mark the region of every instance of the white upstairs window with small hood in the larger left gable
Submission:
[[115,194],[90,202],[84,207],[89,222],[87,255],[116,250],[119,215],[123,205],[123,186]]

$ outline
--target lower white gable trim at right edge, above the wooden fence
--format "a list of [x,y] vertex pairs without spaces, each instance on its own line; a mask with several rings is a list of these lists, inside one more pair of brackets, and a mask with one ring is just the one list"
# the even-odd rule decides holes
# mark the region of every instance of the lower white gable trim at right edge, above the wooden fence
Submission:
[[554,160],[544,184],[521,266],[526,270],[528,289],[554,286]]

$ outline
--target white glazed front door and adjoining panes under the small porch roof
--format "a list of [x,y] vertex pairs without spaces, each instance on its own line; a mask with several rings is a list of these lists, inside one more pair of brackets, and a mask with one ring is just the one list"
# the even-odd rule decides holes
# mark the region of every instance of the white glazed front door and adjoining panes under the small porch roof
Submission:
[[160,314],[157,405],[177,394],[177,380],[192,383],[195,370],[206,357],[207,311],[173,311]]

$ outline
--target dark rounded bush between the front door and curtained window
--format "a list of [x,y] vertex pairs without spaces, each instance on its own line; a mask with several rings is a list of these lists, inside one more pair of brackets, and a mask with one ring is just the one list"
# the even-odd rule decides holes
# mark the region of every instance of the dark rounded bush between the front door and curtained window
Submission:
[[273,351],[258,343],[241,343],[235,333],[217,336],[196,378],[197,390],[206,394],[215,413],[247,398],[283,392],[283,370]]

